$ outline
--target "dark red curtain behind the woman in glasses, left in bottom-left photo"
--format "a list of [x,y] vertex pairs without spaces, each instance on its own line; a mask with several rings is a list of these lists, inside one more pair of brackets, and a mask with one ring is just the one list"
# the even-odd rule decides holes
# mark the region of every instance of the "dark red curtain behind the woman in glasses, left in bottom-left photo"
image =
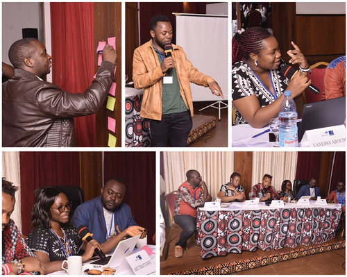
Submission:
[[80,186],[80,158],[78,152],[20,152],[23,234],[28,235],[34,190],[52,185]]

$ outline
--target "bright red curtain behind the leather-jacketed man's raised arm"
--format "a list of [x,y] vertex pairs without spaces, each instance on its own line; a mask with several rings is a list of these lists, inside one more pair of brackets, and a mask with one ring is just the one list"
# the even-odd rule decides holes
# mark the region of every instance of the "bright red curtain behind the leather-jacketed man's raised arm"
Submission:
[[[94,76],[94,3],[51,3],[53,83],[85,92]],[[75,118],[79,147],[96,146],[95,115]]]

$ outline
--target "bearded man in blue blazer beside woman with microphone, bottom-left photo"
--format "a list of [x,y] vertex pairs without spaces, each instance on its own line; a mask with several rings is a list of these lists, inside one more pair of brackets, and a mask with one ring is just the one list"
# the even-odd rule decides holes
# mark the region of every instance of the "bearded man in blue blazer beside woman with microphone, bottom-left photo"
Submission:
[[[113,177],[101,188],[101,196],[79,205],[71,219],[76,228],[87,226],[93,239],[103,244],[113,235],[129,228],[136,235],[144,228],[137,226],[130,207],[123,203],[126,183],[119,177]],[[144,232],[141,238],[146,237]]]

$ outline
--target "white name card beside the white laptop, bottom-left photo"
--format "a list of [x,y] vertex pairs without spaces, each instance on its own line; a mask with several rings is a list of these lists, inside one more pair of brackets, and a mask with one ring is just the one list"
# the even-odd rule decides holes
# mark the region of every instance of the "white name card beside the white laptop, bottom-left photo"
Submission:
[[133,269],[136,275],[149,275],[155,272],[155,265],[146,251],[142,250],[126,257],[117,271],[120,273],[126,271],[126,269]]

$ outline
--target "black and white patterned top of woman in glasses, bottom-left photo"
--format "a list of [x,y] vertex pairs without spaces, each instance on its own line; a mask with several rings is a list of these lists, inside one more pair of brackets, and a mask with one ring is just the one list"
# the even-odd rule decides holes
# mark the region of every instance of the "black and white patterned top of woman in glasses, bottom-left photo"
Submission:
[[[81,237],[77,233],[76,227],[69,225],[67,227],[62,227],[65,234],[67,235],[67,240],[71,246],[72,255],[78,255],[83,242]],[[62,244],[65,244],[65,237],[60,237]],[[26,244],[32,251],[40,251],[49,255],[51,262],[55,260],[65,260],[66,256],[56,235],[49,230],[49,228],[35,227],[31,233],[26,237]]]

